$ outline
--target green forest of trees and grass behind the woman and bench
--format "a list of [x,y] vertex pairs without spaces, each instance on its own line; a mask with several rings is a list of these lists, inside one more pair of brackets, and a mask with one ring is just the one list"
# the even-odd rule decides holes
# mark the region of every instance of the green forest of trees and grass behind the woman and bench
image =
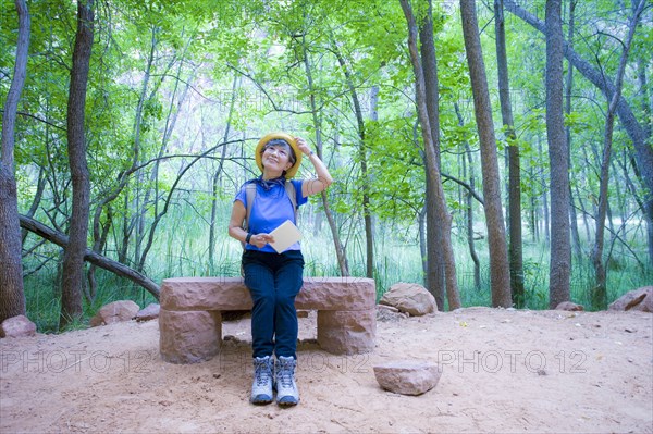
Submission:
[[305,275],[441,310],[653,282],[649,0],[0,3],[0,322],[238,276],[231,207],[273,131],[334,177],[299,211]]

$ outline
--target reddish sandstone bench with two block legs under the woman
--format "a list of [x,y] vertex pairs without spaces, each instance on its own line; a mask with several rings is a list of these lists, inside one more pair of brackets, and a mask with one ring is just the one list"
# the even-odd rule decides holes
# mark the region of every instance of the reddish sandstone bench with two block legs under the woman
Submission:
[[[332,354],[372,351],[377,334],[374,281],[362,277],[305,277],[295,307],[318,311],[318,344]],[[161,357],[197,363],[220,352],[222,311],[251,310],[241,277],[174,277],[161,284]]]

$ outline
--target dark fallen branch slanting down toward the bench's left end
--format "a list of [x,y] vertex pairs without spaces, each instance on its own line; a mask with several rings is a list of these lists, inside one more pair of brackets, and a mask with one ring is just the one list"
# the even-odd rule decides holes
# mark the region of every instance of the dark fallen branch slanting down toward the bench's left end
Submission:
[[[21,220],[21,227],[24,230],[27,230],[50,243],[54,243],[57,246],[64,248],[67,246],[69,238],[65,234],[54,231],[53,228],[48,227],[45,224],[26,215],[20,214],[19,218]],[[147,289],[151,295],[155,296],[157,300],[159,299],[159,285],[157,285],[146,275],[140,274],[127,265],[113,261],[107,257],[103,257],[102,255],[91,251],[90,249],[86,249],[86,253],[84,253],[84,260],[101,269],[110,271],[115,275],[128,278],[135,284]]]

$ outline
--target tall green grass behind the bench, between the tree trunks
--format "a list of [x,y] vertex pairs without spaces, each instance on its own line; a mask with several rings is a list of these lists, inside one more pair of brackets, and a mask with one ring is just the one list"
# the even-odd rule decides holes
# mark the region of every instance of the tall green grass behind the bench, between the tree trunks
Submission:
[[[205,210],[208,214],[208,210]],[[209,262],[208,226],[200,218],[199,208],[173,208],[159,225],[159,232],[149,252],[145,273],[155,282],[173,276],[238,276],[241,273],[241,244],[227,236],[231,201],[222,204],[217,227],[214,261]],[[303,252],[306,260],[305,275],[336,276],[340,266],[329,226],[323,222],[315,227],[313,222],[304,221],[299,226],[304,233]],[[421,256],[415,228],[397,228],[377,223],[374,280],[378,297],[398,282],[423,284]],[[346,247],[349,272],[354,276],[366,274],[365,235],[356,231],[342,233]],[[636,240],[633,240],[636,243]],[[114,246],[111,246],[113,248]],[[645,246],[639,246],[644,251]],[[460,299],[464,307],[490,306],[490,278],[488,246],[477,241],[477,253],[481,262],[480,286],[475,287],[473,263],[467,243],[454,239],[456,273]],[[51,251],[50,251],[51,255]],[[38,273],[25,278],[27,314],[40,332],[54,332],[59,322],[60,294],[56,261],[50,261]],[[28,266],[26,266],[28,268]],[[549,308],[549,248],[543,243],[527,243],[523,246],[523,272],[527,309]],[[97,310],[111,301],[132,299],[141,308],[156,301],[146,290],[131,282],[103,271],[96,271],[98,289],[95,298],[84,301],[84,318],[76,326],[84,326]],[[629,255],[615,252],[608,266],[608,301],[627,290],[650,285],[653,271],[642,270]],[[593,269],[589,258],[572,264],[571,300],[586,309],[591,307],[590,290],[593,285]],[[447,308],[445,306],[445,308]]]

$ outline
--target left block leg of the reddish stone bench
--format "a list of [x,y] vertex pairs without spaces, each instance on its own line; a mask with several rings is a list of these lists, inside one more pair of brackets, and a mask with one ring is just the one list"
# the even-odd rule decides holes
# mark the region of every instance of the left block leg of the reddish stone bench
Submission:
[[170,363],[198,363],[220,352],[220,311],[170,311],[159,313],[159,348]]

